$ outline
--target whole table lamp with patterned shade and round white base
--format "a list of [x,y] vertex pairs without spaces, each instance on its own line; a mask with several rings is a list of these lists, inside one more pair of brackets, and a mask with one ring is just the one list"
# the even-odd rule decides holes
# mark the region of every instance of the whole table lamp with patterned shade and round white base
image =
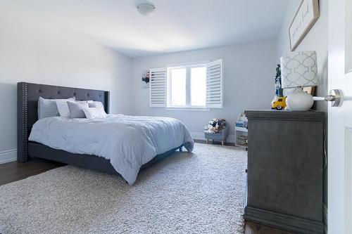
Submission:
[[303,87],[318,86],[317,53],[301,51],[281,57],[282,89],[294,89],[287,96],[288,110],[310,110],[313,96]]

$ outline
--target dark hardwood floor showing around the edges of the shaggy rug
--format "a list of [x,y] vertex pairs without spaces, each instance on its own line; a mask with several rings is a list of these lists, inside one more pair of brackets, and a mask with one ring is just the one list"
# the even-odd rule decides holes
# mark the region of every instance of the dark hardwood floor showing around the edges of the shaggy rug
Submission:
[[[200,143],[203,143],[199,141]],[[0,186],[19,181],[29,176],[41,174],[44,171],[54,169],[56,167],[62,167],[65,164],[60,162],[53,162],[49,160],[42,160],[39,158],[33,158],[28,162],[8,162],[6,164],[0,164]],[[270,228],[263,226],[258,223],[246,222],[245,223],[245,234],[292,234],[284,230],[277,228]]]

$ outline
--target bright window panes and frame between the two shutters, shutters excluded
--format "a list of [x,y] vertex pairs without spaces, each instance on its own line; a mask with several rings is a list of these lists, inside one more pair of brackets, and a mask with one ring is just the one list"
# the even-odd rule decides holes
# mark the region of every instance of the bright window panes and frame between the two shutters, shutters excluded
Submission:
[[206,64],[167,68],[167,107],[206,108]]

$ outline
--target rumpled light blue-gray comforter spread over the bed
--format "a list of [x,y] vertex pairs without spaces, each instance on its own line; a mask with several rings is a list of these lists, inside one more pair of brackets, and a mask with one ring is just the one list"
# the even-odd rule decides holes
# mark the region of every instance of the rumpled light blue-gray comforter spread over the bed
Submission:
[[163,152],[180,145],[191,152],[194,141],[177,119],[108,115],[99,119],[47,117],[32,127],[29,141],[73,153],[110,160],[114,169],[132,185],[139,169]]

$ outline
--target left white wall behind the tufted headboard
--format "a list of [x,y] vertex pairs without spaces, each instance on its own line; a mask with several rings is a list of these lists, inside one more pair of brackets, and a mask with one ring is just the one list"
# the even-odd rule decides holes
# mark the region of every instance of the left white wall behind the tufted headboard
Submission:
[[130,112],[132,58],[8,10],[0,32],[0,162],[16,154],[17,82],[108,90],[111,112]]

